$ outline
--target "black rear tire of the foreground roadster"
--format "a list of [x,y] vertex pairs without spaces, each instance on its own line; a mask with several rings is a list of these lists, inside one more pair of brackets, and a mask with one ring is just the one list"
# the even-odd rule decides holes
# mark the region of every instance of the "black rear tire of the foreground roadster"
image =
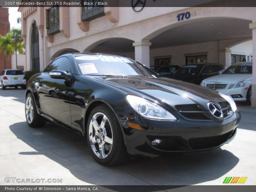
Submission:
[[[32,106],[33,106],[33,112],[31,113],[33,115],[32,121],[29,121],[27,111],[26,111],[27,101],[28,101],[29,98],[31,99],[31,103],[32,103]],[[25,116],[26,116],[26,121],[27,121],[27,123],[30,127],[42,127],[46,123],[45,119],[37,113],[34,97],[31,93],[28,93],[28,95],[26,97]]]

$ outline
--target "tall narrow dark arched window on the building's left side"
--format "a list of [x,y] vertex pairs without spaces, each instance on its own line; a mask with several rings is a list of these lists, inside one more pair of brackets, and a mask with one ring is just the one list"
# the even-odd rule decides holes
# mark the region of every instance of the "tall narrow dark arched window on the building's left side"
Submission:
[[31,68],[34,71],[40,71],[40,60],[39,60],[39,34],[37,23],[32,23],[31,31]]

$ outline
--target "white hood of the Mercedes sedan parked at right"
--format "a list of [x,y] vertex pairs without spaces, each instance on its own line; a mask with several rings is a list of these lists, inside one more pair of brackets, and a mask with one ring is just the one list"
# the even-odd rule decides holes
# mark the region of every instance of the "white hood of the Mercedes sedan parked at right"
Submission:
[[251,81],[252,74],[220,74],[209,77],[203,80],[203,83],[207,82],[227,82],[229,84],[235,84],[239,81]]

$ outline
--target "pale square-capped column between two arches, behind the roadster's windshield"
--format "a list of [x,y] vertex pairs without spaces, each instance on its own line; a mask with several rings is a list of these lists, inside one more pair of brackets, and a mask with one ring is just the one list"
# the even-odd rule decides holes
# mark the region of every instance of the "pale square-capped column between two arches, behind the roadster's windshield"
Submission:
[[132,44],[135,47],[135,60],[149,68],[149,41],[138,41]]

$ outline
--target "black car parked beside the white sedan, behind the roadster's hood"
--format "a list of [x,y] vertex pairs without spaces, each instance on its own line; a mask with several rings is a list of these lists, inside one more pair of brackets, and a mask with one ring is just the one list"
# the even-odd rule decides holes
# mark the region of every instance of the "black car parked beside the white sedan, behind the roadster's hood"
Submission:
[[224,69],[224,66],[215,63],[183,65],[177,71],[165,77],[199,85],[203,79],[218,75]]

